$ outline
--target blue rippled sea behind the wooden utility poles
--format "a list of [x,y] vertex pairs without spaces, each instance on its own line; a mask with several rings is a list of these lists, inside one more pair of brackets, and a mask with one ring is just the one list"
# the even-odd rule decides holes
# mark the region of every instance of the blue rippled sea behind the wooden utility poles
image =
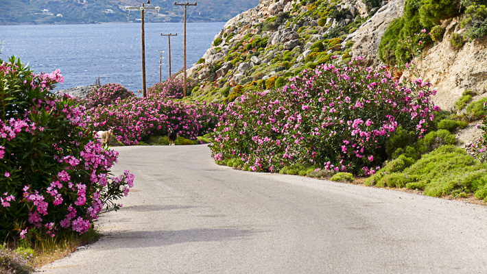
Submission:
[[[225,23],[187,23],[187,65],[192,66],[209,49]],[[171,36],[171,71],[183,62],[182,23],[145,24],[147,87],[159,82],[163,51],[163,80],[169,76],[167,36]],[[15,55],[35,73],[60,69],[64,84],[56,90],[95,84],[119,83],[134,92],[142,89],[141,23],[103,25],[0,26],[0,59]]]

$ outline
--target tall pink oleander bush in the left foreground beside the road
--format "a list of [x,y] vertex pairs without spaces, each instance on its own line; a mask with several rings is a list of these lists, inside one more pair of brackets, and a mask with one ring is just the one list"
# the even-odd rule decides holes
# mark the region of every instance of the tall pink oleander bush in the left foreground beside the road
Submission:
[[94,141],[83,106],[51,90],[63,77],[35,75],[0,60],[0,237],[88,231],[97,214],[117,210],[134,175],[110,174],[117,151]]

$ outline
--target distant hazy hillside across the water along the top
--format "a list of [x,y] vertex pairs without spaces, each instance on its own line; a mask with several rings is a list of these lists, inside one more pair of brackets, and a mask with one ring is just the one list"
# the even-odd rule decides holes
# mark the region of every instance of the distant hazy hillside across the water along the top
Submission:
[[[184,2],[181,1],[181,3]],[[256,6],[259,0],[201,0],[196,2],[198,3],[196,7],[187,9],[189,22],[226,22],[240,12]],[[140,6],[141,1],[1,0],[0,25],[122,23],[135,22],[137,18],[141,18],[140,12],[132,11],[127,14],[126,5]],[[174,1],[152,0],[150,5],[160,7],[161,11],[159,14],[147,12],[146,21],[148,22],[179,22],[182,19],[183,8],[175,7]]]

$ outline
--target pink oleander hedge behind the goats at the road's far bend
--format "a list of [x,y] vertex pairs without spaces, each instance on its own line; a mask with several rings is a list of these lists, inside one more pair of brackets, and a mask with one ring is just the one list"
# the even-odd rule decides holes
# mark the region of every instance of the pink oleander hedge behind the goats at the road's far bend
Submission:
[[218,106],[213,103],[184,103],[173,101],[171,86],[182,90],[182,82],[169,79],[163,84],[156,84],[147,92],[147,97],[126,97],[108,105],[89,108],[87,113],[97,130],[113,129],[116,138],[125,145],[136,145],[145,138],[167,134],[169,127],[178,132],[178,136],[195,140],[213,129],[216,125]]

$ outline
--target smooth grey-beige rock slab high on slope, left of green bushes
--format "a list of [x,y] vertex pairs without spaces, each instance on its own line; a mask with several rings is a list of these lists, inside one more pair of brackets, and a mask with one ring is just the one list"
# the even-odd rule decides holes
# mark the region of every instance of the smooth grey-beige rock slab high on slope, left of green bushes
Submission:
[[354,56],[364,56],[367,66],[373,69],[382,66],[379,60],[379,44],[388,25],[395,19],[403,16],[405,0],[391,0],[387,5],[380,8],[372,18],[361,27],[347,36],[346,40],[353,40],[352,47]]

